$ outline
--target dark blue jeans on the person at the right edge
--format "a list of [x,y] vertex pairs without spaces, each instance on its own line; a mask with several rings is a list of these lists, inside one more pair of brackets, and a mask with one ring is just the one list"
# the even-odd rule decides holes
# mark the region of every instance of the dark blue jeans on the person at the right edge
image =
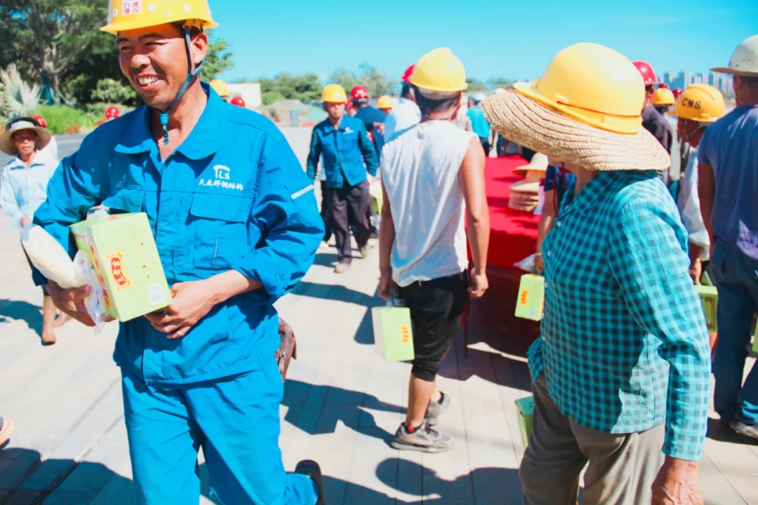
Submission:
[[711,258],[719,307],[719,344],[713,357],[716,388],[713,404],[722,421],[758,423],[758,369],[753,365],[742,382],[750,329],[758,307],[758,260],[716,239]]

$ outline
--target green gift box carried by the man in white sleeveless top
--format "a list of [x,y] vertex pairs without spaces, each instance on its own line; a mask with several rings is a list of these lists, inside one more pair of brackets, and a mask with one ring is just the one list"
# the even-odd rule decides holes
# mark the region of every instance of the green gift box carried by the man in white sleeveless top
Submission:
[[411,310],[408,307],[374,307],[374,350],[386,361],[409,361],[413,353]]

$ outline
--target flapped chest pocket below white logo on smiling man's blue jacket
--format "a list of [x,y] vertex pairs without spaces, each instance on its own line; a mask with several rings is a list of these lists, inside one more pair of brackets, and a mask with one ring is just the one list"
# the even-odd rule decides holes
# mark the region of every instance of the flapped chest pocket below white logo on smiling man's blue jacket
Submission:
[[186,251],[177,269],[230,270],[248,249],[251,207],[251,198],[195,193],[180,244]]

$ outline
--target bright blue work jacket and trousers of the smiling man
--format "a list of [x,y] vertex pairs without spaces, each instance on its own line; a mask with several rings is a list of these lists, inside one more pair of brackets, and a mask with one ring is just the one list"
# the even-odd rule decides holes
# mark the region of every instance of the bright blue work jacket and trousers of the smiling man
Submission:
[[90,207],[145,212],[169,285],[228,270],[263,285],[216,305],[177,340],[144,317],[121,323],[114,360],[138,503],[198,503],[203,447],[221,502],[310,505],[315,485],[284,472],[278,446],[283,384],[272,304],[305,275],[324,228],[276,126],[203,88],[202,116],[166,160],[145,106],[89,134],[61,162],[34,222],[73,255],[67,226]]

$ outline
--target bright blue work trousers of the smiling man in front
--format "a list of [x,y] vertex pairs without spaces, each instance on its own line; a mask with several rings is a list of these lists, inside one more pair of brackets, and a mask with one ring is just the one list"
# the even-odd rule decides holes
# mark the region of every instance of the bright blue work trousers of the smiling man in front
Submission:
[[199,447],[224,505],[316,503],[309,477],[284,472],[273,357],[243,376],[158,391],[123,373],[122,390],[136,503],[198,503]]

